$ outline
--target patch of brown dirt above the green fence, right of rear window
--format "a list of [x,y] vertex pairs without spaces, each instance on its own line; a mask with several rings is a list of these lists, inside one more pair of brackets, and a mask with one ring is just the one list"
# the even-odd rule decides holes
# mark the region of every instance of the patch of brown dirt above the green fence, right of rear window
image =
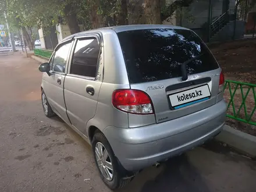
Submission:
[[256,84],[256,38],[209,47],[226,79]]

